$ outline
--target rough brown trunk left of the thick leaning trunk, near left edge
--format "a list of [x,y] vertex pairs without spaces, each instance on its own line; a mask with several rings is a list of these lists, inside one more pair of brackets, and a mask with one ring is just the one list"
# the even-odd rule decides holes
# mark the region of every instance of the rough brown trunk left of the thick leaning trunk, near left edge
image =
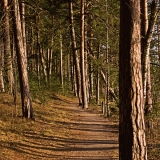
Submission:
[[8,92],[9,94],[14,94],[14,76],[13,76],[13,66],[12,66],[12,56],[11,56],[11,46],[10,46],[10,24],[9,24],[9,6],[8,0],[3,0],[4,4],[4,56],[5,56],[5,67],[7,68],[8,75]]

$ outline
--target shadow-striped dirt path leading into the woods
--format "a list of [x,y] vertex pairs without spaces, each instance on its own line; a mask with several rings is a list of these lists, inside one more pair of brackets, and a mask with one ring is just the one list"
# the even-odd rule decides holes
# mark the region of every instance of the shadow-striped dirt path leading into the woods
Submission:
[[60,159],[118,159],[117,125],[102,115],[84,110],[76,104],[61,106],[69,119],[59,122],[68,130],[66,148]]

